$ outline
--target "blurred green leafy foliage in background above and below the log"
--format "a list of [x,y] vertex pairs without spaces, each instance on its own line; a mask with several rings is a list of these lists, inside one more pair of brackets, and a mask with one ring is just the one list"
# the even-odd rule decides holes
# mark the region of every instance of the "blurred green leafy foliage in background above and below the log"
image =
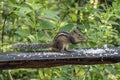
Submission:
[[[46,43],[76,27],[86,40],[77,48],[120,46],[120,1],[88,0],[79,6],[77,0],[0,0],[0,51],[13,51],[9,45],[18,42]],[[119,73],[119,64],[70,65],[2,70],[0,80],[119,80]]]

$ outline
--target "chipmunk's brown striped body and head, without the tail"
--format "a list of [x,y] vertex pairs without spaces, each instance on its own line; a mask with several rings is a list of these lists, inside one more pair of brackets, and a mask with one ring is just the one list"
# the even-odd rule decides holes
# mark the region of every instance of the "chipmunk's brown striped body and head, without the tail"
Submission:
[[61,32],[54,38],[51,43],[53,51],[68,51],[69,44],[77,44],[83,41],[83,36],[78,30],[71,33]]

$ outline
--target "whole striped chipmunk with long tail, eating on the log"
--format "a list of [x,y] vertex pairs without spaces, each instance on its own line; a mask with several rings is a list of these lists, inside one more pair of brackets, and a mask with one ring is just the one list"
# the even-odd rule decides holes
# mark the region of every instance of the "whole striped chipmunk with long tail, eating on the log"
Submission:
[[14,44],[12,48],[18,49],[39,49],[39,48],[52,48],[52,51],[69,51],[69,44],[78,44],[84,41],[83,35],[78,29],[73,30],[72,32],[59,32],[54,37],[54,40],[48,44]]

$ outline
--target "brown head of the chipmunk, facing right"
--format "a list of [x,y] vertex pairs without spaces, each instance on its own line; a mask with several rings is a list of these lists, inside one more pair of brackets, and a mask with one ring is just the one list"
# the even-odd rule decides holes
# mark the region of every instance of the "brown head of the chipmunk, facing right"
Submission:
[[78,29],[75,29],[71,32],[70,39],[73,44],[77,44],[84,41],[83,35]]

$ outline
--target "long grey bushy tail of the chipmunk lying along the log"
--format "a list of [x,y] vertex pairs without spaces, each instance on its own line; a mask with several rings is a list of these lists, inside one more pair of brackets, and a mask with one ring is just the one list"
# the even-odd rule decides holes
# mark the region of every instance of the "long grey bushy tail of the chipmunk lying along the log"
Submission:
[[37,44],[19,43],[12,45],[12,48],[18,48],[18,49],[42,49],[42,48],[50,48],[50,47],[51,47],[50,44],[41,44],[41,43],[37,43]]

